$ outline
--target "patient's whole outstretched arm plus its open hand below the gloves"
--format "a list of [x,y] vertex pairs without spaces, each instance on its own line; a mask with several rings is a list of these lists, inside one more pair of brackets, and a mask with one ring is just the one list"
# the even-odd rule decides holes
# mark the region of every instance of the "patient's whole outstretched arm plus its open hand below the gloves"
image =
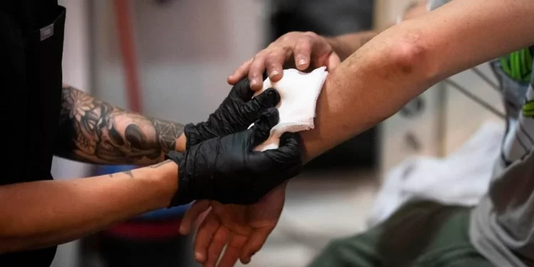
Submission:
[[[533,13],[532,0],[452,1],[380,33],[331,71],[315,129],[301,133],[305,161],[393,115],[440,79],[534,44]],[[211,205],[197,234],[197,260],[215,266],[228,243],[219,266],[246,263],[276,226],[283,198],[282,186],[252,206],[199,201],[182,231]]]

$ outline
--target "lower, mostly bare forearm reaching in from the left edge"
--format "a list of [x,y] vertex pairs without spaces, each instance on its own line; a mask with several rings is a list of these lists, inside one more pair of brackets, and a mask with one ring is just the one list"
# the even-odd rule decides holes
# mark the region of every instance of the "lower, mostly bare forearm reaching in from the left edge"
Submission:
[[110,224],[167,206],[177,164],[131,172],[0,187],[0,253],[79,239]]

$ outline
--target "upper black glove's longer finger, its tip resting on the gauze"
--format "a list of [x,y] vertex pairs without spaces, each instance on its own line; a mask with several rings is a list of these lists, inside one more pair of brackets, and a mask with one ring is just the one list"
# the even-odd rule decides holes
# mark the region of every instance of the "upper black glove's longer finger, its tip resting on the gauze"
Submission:
[[269,88],[256,96],[256,98],[248,101],[245,105],[241,105],[241,118],[246,119],[244,123],[250,125],[263,112],[266,112],[269,108],[275,108],[279,102],[280,95],[278,92],[273,88]]

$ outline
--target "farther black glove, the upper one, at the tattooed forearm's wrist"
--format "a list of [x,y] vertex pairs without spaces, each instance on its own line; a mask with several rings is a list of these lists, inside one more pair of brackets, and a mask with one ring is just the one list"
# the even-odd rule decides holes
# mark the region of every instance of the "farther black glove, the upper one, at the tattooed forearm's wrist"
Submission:
[[253,95],[254,91],[250,88],[248,78],[236,83],[223,103],[209,115],[206,122],[185,125],[186,149],[204,140],[246,130],[261,113],[280,102],[280,95],[273,88],[251,99]]

